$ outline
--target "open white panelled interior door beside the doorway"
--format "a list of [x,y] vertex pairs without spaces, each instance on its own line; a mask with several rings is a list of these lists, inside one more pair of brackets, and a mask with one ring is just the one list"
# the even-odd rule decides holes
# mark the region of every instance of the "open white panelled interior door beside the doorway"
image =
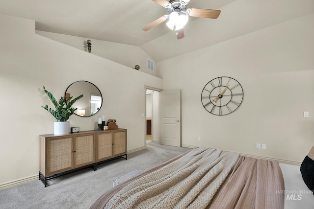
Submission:
[[181,146],[180,90],[160,92],[160,144]]

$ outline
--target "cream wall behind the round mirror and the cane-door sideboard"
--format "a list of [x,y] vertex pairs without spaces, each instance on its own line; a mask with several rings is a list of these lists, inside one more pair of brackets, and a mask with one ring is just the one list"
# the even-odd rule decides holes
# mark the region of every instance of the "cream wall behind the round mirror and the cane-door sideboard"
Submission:
[[103,107],[95,116],[71,116],[70,126],[95,130],[99,116],[128,129],[128,151],[145,146],[145,86],[162,80],[35,34],[33,21],[0,15],[0,188],[38,175],[38,136],[53,133],[55,119],[41,108],[78,80],[95,84]]

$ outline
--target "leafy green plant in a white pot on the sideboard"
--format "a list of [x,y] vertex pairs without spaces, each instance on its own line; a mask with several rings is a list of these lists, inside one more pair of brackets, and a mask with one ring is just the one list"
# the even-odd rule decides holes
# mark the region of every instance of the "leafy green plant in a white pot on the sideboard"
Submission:
[[56,99],[53,97],[52,93],[48,92],[45,89],[45,86],[44,91],[48,95],[49,99],[52,101],[52,104],[54,105],[55,108],[55,110],[52,110],[51,108],[48,109],[48,105],[41,106],[42,108],[50,112],[52,116],[55,117],[55,119],[57,119],[57,122],[54,122],[54,134],[55,135],[69,134],[70,122],[67,120],[69,119],[70,116],[74,114],[74,111],[78,109],[72,108],[71,106],[78,99],[82,98],[83,94],[79,95],[74,99],[72,99],[73,96],[70,96],[68,99],[65,99],[61,96],[59,102],[57,102]]

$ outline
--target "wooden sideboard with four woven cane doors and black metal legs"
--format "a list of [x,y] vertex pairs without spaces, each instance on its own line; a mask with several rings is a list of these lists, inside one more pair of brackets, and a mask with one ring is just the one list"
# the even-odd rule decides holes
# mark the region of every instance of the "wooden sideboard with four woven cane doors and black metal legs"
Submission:
[[115,158],[127,160],[127,129],[82,131],[39,136],[39,180],[47,181],[79,168]]

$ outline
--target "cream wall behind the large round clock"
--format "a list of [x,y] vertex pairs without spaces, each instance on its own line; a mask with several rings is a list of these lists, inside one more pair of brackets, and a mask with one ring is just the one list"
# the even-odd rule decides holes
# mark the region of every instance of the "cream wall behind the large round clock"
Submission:
[[[163,90],[182,92],[183,146],[301,163],[314,145],[313,23],[312,13],[158,62]],[[219,76],[244,90],[243,104],[227,116],[211,115],[201,103],[204,86]]]

